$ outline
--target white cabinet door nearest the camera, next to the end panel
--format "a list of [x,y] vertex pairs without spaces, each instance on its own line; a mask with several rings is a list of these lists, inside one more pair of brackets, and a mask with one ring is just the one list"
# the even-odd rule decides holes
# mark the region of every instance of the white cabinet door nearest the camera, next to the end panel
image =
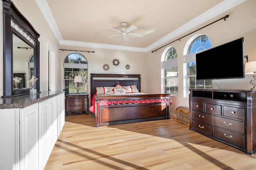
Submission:
[[38,158],[38,104],[20,109],[20,169],[36,170]]

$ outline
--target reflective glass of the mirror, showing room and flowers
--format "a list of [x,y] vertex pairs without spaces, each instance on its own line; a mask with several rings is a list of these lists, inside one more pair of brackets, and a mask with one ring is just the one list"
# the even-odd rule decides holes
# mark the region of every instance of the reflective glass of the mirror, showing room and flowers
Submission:
[[34,76],[34,49],[12,34],[13,90],[30,88],[28,80]]

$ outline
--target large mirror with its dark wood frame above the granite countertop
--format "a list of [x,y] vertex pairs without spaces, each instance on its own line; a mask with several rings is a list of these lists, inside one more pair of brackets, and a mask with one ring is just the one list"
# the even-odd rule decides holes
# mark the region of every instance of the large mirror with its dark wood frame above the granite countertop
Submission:
[[[35,88],[40,92],[40,43],[38,41],[40,34],[11,0],[2,1],[4,33],[4,96],[2,97],[29,94],[31,86],[28,80],[33,75],[38,78]],[[34,63],[30,62],[31,58]]]

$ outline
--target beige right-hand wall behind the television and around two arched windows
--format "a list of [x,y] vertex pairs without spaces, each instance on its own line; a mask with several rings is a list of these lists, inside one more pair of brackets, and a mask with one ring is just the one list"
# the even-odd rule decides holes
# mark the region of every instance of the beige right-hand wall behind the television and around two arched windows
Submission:
[[[175,108],[178,106],[187,106],[188,107],[188,98],[184,98],[184,77],[182,76],[184,74],[183,72],[183,51],[186,42],[196,34],[205,34],[210,38],[210,41],[212,42],[212,47],[216,47],[218,45],[221,45],[223,43],[227,43],[229,41],[238,39],[240,37],[244,37],[244,55],[248,55],[248,61],[255,61],[256,60],[256,11],[255,11],[256,1],[255,0],[247,0],[246,2],[243,2],[242,4],[236,6],[235,8],[229,10],[228,12],[225,12],[223,14],[219,15],[219,18],[222,18],[226,14],[229,14],[230,17],[226,19],[226,21],[221,20],[216,23],[213,23],[212,25],[209,25],[208,27],[205,27],[203,29],[200,29],[199,31],[192,33],[184,38],[182,38],[180,41],[175,41],[174,43],[171,43],[168,46],[175,47],[178,53],[178,97],[172,96],[172,106],[171,106],[171,112],[174,113]],[[217,18],[217,20],[219,19]],[[216,20],[212,20],[216,21]],[[187,33],[184,33],[184,35],[187,35],[194,30],[197,30],[207,24],[204,23],[202,25],[199,25],[197,28],[194,28]],[[176,37],[176,39],[183,37],[184,35],[180,35],[179,37]],[[174,39],[175,40],[175,39]],[[170,40],[169,42],[172,42],[174,40]],[[166,42],[163,45],[168,44],[169,42]],[[166,47],[168,47],[166,46]],[[161,47],[161,46],[159,46]],[[158,47],[158,48],[159,48]],[[157,52],[151,53],[149,51],[146,55],[147,57],[147,92],[148,93],[160,93],[161,92],[161,56],[166,48],[162,48],[157,50]],[[158,49],[156,48],[156,49]],[[234,49],[235,50],[235,49]],[[153,51],[153,50],[152,50]],[[221,62],[221,61],[220,61]],[[246,62],[246,60],[245,60]],[[155,69],[151,69],[155,68]],[[218,69],[218,66],[216,66],[216,69]],[[206,73],[207,74],[207,73]],[[221,89],[250,89],[252,88],[252,85],[250,84],[250,80],[252,79],[251,75],[246,75],[245,78],[241,79],[225,79],[225,80],[214,80]],[[214,88],[218,88],[216,84],[213,82]]]

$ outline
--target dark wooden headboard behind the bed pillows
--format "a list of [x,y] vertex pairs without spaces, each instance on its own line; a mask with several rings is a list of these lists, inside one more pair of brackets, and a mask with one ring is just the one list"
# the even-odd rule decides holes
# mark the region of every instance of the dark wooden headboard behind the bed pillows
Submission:
[[140,92],[140,74],[91,74],[91,98],[96,87],[115,87],[136,85]]

